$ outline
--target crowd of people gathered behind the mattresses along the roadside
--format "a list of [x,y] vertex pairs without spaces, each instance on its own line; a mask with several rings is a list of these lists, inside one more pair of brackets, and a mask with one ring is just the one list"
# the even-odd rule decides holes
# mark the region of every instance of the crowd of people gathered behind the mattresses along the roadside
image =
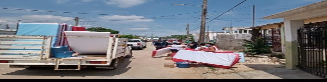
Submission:
[[171,44],[167,41],[158,40],[153,42],[153,45],[156,47],[156,50],[171,47],[172,53],[177,53],[180,49],[183,48],[192,48],[199,51],[206,51],[206,52],[216,52],[219,51],[219,48],[217,45],[211,44],[211,43],[202,43],[199,44],[193,40],[189,40],[186,43],[174,43]]

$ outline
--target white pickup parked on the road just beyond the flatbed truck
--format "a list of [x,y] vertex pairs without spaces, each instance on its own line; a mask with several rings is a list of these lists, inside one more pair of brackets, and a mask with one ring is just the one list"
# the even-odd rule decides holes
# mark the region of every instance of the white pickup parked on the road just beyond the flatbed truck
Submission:
[[128,44],[133,45],[133,46],[131,46],[133,49],[146,48],[146,42],[144,42],[140,39],[128,39]]

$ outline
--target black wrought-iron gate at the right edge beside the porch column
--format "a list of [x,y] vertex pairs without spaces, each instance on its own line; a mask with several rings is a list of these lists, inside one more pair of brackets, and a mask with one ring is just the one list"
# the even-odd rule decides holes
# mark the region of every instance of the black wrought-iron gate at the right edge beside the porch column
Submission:
[[306,25],[298,30],[298,68],[327,78],[327,25]]

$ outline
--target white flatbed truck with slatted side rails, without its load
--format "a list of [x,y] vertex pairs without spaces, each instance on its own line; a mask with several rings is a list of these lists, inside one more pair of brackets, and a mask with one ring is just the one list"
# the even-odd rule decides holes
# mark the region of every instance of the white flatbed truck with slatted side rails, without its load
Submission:
[[[54,67],[54,70],[80,70],[87,66],[100,69],[116,69],[124,57],[131,56],[131,47],[127,46],[126,38],[108,37],[107,54],[87,55],[74,54],[82,58],[51,58],[51,42],[55,36],[17,36],[0,35],[0,64],[11,68],[38,69],[39,67]],[[58,37],[58,36],[56,36]],[[59,37],[107,37],[107,36],[59,36]],[[16,40],[16,41],[15,41]],[[40,40],[21,41],[21,40]],[[15,45],[16,44],[16,45]],[[17,46],[42,45],[42,46]],[[20,50],[14,50],[20,49]],[[38,50],[24,50],[38,49]],[[77,66],[77,69],[59,69],[60,66]]]

